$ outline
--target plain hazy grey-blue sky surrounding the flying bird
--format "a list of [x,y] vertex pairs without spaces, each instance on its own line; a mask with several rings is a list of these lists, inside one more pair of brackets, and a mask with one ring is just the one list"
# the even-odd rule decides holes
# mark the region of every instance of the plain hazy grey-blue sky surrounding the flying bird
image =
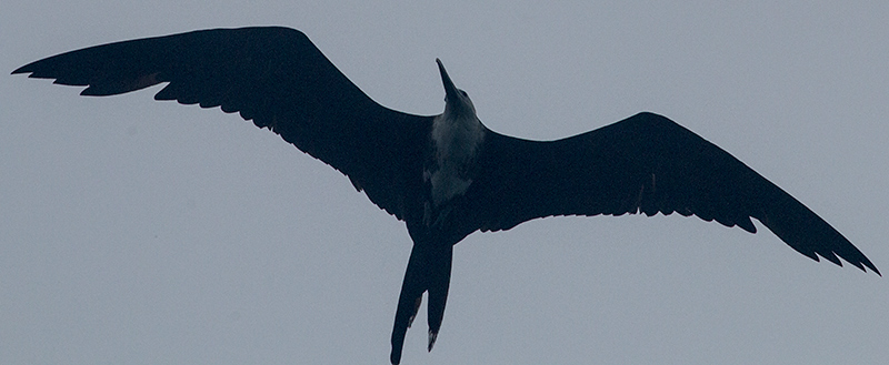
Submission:
[[[722,146],[889,272],[889,4],[16,1],[0,70],[202,28],[300,29],[378,102],[556,139],[648,110]],[[158,89],[0,77],[0,363],[388,362],[410,239],[348,179]],[[758,223],[758,222],[757,222]],[[455,250],[406,364],[889,361],[889,287],[760,233],[558,217]]]

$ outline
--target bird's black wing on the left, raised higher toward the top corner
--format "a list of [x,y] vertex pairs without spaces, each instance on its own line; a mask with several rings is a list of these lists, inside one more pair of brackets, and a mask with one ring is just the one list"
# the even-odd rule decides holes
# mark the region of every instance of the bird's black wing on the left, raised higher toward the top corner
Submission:
[[[71,51],[12,73],[112,95],[169,82],[156,100],[221,107],[330,164],[373,203],[403,219],[404,171],[431,116],[368,98],[300,31],[212,29]],[[414,168],[419,170],[421,168]]]

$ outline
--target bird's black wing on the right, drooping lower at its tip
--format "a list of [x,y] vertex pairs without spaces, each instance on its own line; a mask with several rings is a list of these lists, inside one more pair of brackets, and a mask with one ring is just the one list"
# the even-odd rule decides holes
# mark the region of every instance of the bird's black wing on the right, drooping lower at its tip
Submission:
[[551,215],[677,212],[755,233],[762,222],[818,261],[879,274],[830,224],[741,161],[667,118],[640,113],[558,141],[491,133],[467,191],[468,222],[509,230]]

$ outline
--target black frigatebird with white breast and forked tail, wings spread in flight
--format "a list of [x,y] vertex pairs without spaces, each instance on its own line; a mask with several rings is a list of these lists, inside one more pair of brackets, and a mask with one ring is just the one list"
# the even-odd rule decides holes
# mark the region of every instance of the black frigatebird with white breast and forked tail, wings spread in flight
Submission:
[[[362,92],[291,28],[207,29],[74,50],[12,74],[122,94],[166,83],[156,100],[239,113],[344,174],[407,225],[413,243],[391,333],[404,336],[427,295],[428,351],[441,328],[453,246],[469,234],[565,215],[696,215],[750,233],[756,219],[815,261],[879,270],[781,187],[672,120],[640,112],[573,136],[535,141],[481,123],[436,59],[444,111],[417,115]],[[819,258],[820,257],[820,258]],[[427,294],[428,293],[428,294]]]

